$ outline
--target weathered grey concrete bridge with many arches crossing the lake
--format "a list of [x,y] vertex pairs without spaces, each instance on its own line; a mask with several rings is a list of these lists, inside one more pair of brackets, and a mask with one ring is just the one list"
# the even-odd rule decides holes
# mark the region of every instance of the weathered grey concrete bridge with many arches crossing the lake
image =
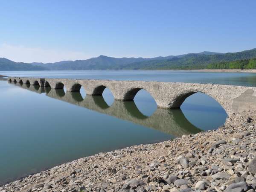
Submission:
[[148,91],[157,103],[158,108],[180,108],[184,100],[197,92],[214,98],[230,116],[244,110],[256,110],[256,87],[242,87],[221,84],[173,83],[156,81],[112,81],[92,79],[50,79],[9,77],[10,82],[51,87],[78,92],[83,86],[87,95],[102,95],[108,87],[114,98],[120,101],[131,101],[141,89]]

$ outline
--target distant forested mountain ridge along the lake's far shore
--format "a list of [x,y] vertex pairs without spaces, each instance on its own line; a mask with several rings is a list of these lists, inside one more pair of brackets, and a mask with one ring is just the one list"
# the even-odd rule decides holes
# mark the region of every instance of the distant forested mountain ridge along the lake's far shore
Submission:
[[121,70],[121,69],[201,69],[208,64],[256,58],[256,49],[235,53],[199,52],[155,58],[96,58],[55,63],[17,63],[0,58],[0,70]]

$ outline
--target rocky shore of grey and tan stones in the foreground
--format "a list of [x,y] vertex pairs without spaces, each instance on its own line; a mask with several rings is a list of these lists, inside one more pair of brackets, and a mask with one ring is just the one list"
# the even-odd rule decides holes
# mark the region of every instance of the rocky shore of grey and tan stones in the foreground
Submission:
[[99,153],[0,187],[0,192],[256,190],[256,113],[218,130]]

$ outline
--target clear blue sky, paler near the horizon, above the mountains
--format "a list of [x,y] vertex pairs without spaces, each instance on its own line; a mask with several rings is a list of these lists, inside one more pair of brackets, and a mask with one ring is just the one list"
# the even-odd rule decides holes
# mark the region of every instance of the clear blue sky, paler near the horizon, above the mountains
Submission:
[[57,62],[256,48],[256,0],[3,0],[0,57]]

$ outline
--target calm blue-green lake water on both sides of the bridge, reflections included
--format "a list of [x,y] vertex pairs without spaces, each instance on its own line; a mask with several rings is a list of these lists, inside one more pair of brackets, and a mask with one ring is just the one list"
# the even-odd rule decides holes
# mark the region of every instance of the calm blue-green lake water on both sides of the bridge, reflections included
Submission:
[[[256,87],[256,74],[185,71],[18,71],[1,75],[235,84]],[[182,134],[218,128],[227,117],[209,96],[195,93],[181,110],[157,109],[140,90],[134,102],[114,101],[0,81],[0,185],[101,151],[155,143]]]

